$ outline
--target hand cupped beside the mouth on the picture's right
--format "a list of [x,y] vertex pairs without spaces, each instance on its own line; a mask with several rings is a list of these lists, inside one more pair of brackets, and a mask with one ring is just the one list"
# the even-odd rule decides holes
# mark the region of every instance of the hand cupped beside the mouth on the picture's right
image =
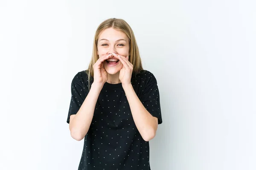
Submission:
[[131,84],[131,74],[133,71],[133,65],[128,60],[128,56],[124,57],[121,55],[118,55],[119,60],[122,62],[122,69],[119,73],[119,79],[122,82],[122,85],[129,85]]

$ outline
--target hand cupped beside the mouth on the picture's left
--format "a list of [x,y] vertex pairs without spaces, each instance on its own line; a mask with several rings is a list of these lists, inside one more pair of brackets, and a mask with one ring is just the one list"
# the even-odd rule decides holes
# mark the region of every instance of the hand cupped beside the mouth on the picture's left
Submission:
[[104,85],[105,82],[108,80],[108,74],[107,71],[104,68],[104,62],[106,59],[111,57],[112,54],[105,54],[102,57],[100,57],[96,63],[93,65],[93,82]]

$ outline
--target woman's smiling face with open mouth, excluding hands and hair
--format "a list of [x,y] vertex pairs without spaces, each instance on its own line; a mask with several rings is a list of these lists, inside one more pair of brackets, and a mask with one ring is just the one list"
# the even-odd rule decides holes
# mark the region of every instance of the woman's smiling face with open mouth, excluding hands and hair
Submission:
[[[117,55],[129,56],[129,40],[125,33],[113,28],[107,28],[99,34],[97,54],[102,55],[115,53]],[[112,60],[112,61],[109,61]],[[116,74],[122,68],[118,57],[105,60],[104,67],[108,74]]]

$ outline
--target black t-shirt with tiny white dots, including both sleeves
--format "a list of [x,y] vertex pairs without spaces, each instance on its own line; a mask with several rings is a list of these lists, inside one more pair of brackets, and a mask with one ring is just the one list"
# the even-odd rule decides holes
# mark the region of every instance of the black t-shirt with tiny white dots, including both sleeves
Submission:
[[[154,75],[145,70],[132,74],[131,84],[144,107],[161,124],[160,98]],[[88,75],[86,71],[80,71],[71,84],[72,96],[67,123],[70,115],[79,111],[88,92]],[[135,126],[122,83],[106,82],[96,102],[90,128],[84,137],[79,170],[131,169],[150,170],[149,143],[143,140]]]

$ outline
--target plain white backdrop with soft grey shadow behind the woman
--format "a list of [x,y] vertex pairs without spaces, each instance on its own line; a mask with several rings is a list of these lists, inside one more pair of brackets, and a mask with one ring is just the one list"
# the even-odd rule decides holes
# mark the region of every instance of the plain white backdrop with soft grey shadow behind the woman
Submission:
[[256,3],[251,0],[0,1],[0,170],[77,170],[71,81],[116,17],[158,81],[151,170],[256,169]]

